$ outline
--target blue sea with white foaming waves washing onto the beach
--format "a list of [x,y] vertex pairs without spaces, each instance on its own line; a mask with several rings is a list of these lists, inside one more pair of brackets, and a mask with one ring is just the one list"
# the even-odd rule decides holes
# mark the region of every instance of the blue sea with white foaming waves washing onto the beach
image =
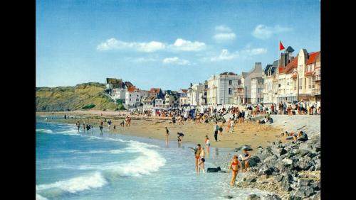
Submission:
[[[266,194],[229,186],[231,173],[196,173],[193,144],[36,122],[36,199],[246,199]],[[163,136],[163,135],[162,135]],[[205,167],[224,149],[211,148]]]

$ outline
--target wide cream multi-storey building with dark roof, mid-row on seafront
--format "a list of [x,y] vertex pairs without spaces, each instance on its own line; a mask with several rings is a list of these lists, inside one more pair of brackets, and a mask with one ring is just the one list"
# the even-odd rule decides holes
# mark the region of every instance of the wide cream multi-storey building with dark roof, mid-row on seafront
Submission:
[[207,80],[206,103],[209,106],[234,104],[234,88],[237,87],[239,77],[234,72],[224,72],[213,75]]

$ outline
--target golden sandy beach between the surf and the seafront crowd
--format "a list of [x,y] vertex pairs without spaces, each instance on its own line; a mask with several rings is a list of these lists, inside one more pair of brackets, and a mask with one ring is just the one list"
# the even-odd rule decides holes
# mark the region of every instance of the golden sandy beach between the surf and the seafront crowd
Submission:
[[[103,113],[103,116],[101,114]],[[213,127],[214,123],[194,123],[193,121],[185,121],[184,125],[178,125],[177,123],[170,123],[170,118],[159,117],[139,117],[131,116],[131,126],[121,127],[125,116],[118,116],[117,111],[72,111],[72,112],[56,112],[56,113],[36,113],[38,116],[48,116],[48,122],[56,123],[70,123],[75,124],[78,119],[51,119],[51,116],[80,116],[80,123],[91,124],[94,127],[98,127],[101,119],[111,119],[112,127],[116,125],[116,131],[111,130],[111,133],[117,133],[122,135],[135,135],[140,137],[155,138],[159,140],[165,140],[164,127],[167,126],[170,135],[169,140],[177,140],[177,132],[184,133],[183,142],[189,143],[201,143],[204,144],[205,135],[209,136],[212,147],[217,148],[239,148],[241,145],[251,145],[253,149],[258,146],[266,147],[268,144],[275,140],[282,140],[285,143],[287,140],[280,136],[281,128],[276,128],[271,125],[258,124],[253,121],[246,121],[245,123],[238,123],[234,128],[233,133],[226,132],[226,124],[223,126],[223,135],[218,136],[218,142],[214,140]],[[123,114],[123,113],[120,113]],[[221,123],[218,123],[219,126]],[[108,128],[106,126],[106,130]]]

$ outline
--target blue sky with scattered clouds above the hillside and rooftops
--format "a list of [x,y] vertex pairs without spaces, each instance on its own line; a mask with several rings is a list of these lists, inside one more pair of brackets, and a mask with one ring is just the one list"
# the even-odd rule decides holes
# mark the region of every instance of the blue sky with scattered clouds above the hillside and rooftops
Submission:
[[320,1],[36,1],[36,86],[130,81],[178,90],[320,50]]

